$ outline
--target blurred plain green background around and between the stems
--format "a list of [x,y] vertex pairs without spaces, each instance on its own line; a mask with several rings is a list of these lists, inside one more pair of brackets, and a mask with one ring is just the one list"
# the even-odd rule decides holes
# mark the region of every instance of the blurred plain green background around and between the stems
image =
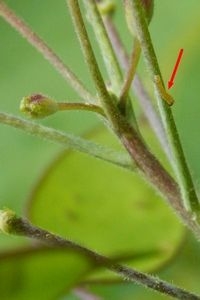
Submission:
[[[63,61],[94,90],[65,1],[30,0],[5,1],[52,48]],[[121,37],[131,51],[131,37],[121,12],[121,1],[116,1],[118,12],[116,25]],[[185,155],[199,190],[200,178],[200,2],[198,0],[155,0],[150,31],[165,84],[170,78],[177,54],[184,49],[183,59],[171,94],[175,98],[172,107]],[[60,75],[33,49],[10,25],[0,19],[0,110],[21,117],[19,102],[23,96],[42,93],[58,101],[80,100]],[[99,51],[95,52],[101,63]],[[104,69],[102,72],[105,74]],[[140,75],[151,95],[152,83],[141,61]],[[69,133],[83,134],[99,124],[91,113],[58,113],[40,123]],[[38,177],[58,156],[61,147],[26,135],[13,128],[0,126],[0,206],[24,213],[26,199]],[[20,239],[0,236],[0,249],[13,247]],[[187,233],[182,249],[176,258],[160,270],[159,275],[185,288],[200,293],[199,246]],[[132,284],[93,285],[92,289],[102,299],[168,299]],[[61,299],[61,298],[60,298]],[[69,295],[64,299],[79,299]]]

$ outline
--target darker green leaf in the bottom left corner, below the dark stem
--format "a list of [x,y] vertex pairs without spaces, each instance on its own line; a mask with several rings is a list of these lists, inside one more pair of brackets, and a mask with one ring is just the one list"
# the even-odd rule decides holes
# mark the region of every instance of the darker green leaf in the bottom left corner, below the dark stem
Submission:
[[85,257],[66,249],[19,248],[0,254],[4,300],[57,299],[91,268]]

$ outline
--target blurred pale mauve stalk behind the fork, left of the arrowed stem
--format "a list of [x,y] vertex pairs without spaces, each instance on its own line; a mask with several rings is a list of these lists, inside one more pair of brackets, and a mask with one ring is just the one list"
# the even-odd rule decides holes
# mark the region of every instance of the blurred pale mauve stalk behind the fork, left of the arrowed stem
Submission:
[[[109,38],[112,42],[115,53],[120,61],[120,64],[123,67],[123,69],[127,70],[129,65],[129,57],[119,37],[119,33],[116,29],[116,26],[112,22],[110,16],[106,15],[103,18],[103,21],[109,34]],[[136,95],[137,100],[140,103],[140,106],[143,110],[146,119],[148,120],[153,131],[155,132],[162,146],[162,149],[165,151],[169,161],[171,161],[171,149],[169,148],[169,143],[167,141],[166,132],[164,130],[163,124],[152,104],[150,96],[145,90],[144,85],[137,74],[135,74],[134,80],[132,82],[132,89],[134,94]]]

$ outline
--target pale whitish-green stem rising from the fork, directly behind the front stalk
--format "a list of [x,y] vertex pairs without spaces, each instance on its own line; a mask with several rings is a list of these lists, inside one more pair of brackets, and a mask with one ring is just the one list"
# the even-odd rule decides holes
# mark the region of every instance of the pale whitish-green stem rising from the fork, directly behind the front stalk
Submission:
[[94,34],[99,44],[105,67],[111,82],[111,90],[119,96],[122,84],[122,74],[119,63],[113,51],[109,37],[102,22],[101,15],[98,11],[97,4],[93,0],[83,0],[88,20],[92,24]]

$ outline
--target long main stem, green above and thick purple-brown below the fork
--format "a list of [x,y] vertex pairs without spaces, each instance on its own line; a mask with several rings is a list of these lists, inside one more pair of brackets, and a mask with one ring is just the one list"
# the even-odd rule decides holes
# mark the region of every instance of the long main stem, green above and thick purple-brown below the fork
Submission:
[[138,136],[137,131],[120,113],[119,109],[107,93],[103,78],[99,71],[85,25],[81,16],[77,0],[67,1],[73,22],[79,37],[86,62],[89,66],[92,78],[96,85],[99,99],[106,113],[108,121],[116,135],[121,140],[130,156],[145,175],[148,182],[152,183],[162,195],[169,201],[171,207],[179,214],[185,224],[200,237],[200,228],[196,220],[191,218],[190,213],[185,211],[176,182],[167,173],[158,160],[150,153],[146,145]]

